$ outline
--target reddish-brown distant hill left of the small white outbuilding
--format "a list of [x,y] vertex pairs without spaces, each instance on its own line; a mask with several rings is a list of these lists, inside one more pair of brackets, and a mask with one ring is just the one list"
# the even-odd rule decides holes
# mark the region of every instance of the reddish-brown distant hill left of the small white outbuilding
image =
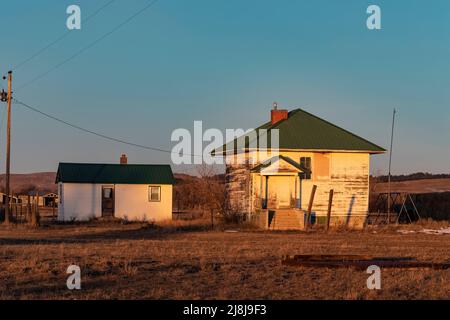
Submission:
[[[56,192],[56,172],[37,172],[24,174],[11,174],[11,190],[14,194],[40,194]],[[0,175],[0,191],[5,190],[5,175]]]

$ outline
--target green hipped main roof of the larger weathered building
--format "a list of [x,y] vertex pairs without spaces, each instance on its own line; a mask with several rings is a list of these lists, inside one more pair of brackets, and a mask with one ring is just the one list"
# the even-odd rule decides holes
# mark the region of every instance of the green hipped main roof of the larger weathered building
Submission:
[[[267,130],[268,148],[270,148],[271,130],[278,129],[280,137],[279,149],[369,153],[386,151],[382,147],[302,109],[290,111],[288,119],[277,122],[274,125],[270,121],[261,125],[255,129],[256,133],[259,133],[261,129]],[[227,151],[236,151],[237,140],[235,139],[214,150],[213,154],[223,154],[224,148]],[[249,148],[249,145],[251,144],[246,139],[245,148]]]

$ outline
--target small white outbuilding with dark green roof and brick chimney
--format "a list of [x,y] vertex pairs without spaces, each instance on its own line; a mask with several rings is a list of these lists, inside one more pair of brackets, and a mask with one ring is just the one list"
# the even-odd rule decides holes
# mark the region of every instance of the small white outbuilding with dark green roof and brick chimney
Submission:
[[116,217],[172,219],[174,177],[170,165],[60,163],[58,220]]

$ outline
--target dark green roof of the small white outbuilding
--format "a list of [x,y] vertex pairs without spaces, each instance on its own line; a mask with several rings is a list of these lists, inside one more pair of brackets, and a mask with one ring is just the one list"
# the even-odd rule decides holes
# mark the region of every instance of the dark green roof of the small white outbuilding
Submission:
[[60,163],[56,183],[174,184],[170,165]]

